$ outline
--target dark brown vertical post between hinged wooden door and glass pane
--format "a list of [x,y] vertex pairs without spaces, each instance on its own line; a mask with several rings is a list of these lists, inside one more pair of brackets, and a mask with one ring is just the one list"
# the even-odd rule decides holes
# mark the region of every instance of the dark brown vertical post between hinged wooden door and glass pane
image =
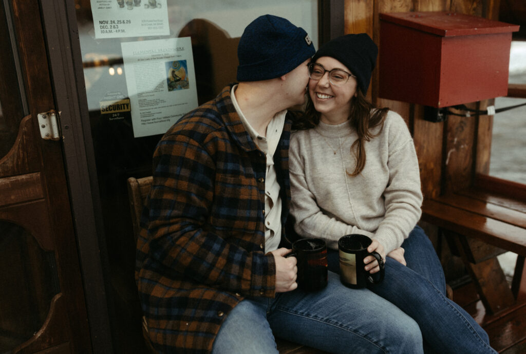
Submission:
[[75,4],[67,0],[41,0],[39,3],[55,106],[60,112],[60,128],[64,137],[65,169],[93,352],[111,353],[109,313],[112,304],[107,296],[108,280],[103,271],[108,269],[108,259],[88,105],[83,92],[84,72]]

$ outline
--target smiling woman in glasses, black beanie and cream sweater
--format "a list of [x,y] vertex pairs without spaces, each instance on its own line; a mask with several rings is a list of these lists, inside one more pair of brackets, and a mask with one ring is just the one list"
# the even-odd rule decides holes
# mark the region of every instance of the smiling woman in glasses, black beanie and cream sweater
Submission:
[[[309,101],[290,145],[295,229],[333,250],[342,235],[372,238],[368,250],[385,259],[385,279],[368,289],[418,323],[427,352],[494,353],[484,330],[446,297],[437,254],[416,226],[422,193],[406,124],[365,98],[377,54],[367,34],[346,35],[309,63]],[[329,263],[337,272],[337,251]],[[372,256],[365,263],[366,271],[379,270]]]

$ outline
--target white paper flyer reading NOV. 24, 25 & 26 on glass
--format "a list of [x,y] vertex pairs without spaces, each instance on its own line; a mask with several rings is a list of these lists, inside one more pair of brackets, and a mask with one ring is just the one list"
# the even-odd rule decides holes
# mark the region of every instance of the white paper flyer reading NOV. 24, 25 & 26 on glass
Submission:
[[95,38],[170,34],[167,0],[92,0]]

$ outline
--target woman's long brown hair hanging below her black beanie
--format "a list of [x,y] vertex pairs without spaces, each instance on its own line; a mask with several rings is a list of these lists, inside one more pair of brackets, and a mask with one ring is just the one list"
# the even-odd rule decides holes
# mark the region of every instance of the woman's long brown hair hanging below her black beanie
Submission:
[[[351,100],[351,111],[349,114],[349,124],[355,128],[358,139],[351,145],[351,154],[356,157],[356,167],[352,173],[347,172],[349,176],[357,176],[365,167],[366,154],[365,142],[370,141],[373,137],[378,136],[383,128],[383,122],[386,119],[389,108],[376,108],[372,103],[367,101],[361,90],[357,90],[357,95]],[[291,112],[293,130],[306,130],[317,126],[320,122],[320,113],[314,108],[314,104],[308,97],[305,112]],[[380,126],[378,133],[373,134],[372,128]]]

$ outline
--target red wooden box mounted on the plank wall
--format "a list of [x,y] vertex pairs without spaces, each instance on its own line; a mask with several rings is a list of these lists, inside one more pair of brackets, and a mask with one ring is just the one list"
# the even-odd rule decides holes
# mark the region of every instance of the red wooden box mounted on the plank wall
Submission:
[[456,13],[380,14],[379,96],[436,108],[505,96],[518,30]]

